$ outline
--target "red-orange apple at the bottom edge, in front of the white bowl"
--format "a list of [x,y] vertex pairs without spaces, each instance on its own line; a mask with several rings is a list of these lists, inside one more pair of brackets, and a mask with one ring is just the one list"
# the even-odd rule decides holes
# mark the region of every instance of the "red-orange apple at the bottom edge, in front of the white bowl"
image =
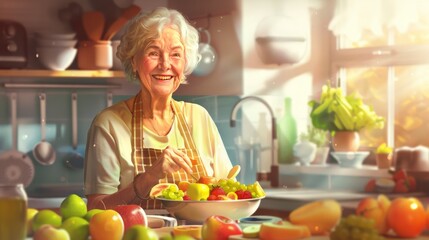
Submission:
[[201,231],[204,240],[228,240],[231,235],[242,234],[237,222],[219,215],[208,217],[204,221]]

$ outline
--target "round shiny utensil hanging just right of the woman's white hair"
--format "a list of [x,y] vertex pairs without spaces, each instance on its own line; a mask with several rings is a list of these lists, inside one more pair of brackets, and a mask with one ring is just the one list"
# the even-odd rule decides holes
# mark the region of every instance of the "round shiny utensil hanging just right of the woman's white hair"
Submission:
[[213,72],[217,63],[217,53],[210,45],[210,33],[207,29],[198,28],[199,32],[206,35],[207,42],[202,42],[198,46],[198,53],[200,54],[200,61],[197,67],[192,72],[195,76],[207,76]]

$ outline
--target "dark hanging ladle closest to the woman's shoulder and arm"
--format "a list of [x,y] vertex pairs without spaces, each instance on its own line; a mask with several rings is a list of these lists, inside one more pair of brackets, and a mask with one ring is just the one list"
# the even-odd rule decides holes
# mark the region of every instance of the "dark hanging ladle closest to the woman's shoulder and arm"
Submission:
[[77,151],[78,146],[78,126],[77,126],[77,93],[72,93],[72,147],[73,153],[66,159],[65,164],[71,169],[82,169],[84,159]]

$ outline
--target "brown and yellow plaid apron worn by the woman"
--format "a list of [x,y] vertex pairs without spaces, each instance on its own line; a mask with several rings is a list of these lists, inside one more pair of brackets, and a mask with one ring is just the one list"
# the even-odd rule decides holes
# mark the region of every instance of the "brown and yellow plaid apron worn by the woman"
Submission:
[[[185,142],[185,148],[179,150],[186,153],[191,159],[194,176],[197,178],[200,176],[207,176],[207,172],[202,164],[194,140],[192,139],[191,132],[189,131],[189,127],[186,124],[182,111],[180,110],[179,103],[175,100],[172,100],[172,109],[176,116],[176,124],[178,124],[179,132]],[[153,163],[158,161],[163,151],[163,149],[144,148],[143,146],[143,103],[141,92],[136,95],[133,105],[132,134],[134,174],[137,175],[144,172],[146,167],[151,167]],[[180,181],[193,182],[194,179],[183,169],[180,169],[175,173],[167,174],[165,178],[159,180],[160,183],[178,183]],[[155,199],[142,200],[140,205],[144,209],[162,208],[161,202]]]

